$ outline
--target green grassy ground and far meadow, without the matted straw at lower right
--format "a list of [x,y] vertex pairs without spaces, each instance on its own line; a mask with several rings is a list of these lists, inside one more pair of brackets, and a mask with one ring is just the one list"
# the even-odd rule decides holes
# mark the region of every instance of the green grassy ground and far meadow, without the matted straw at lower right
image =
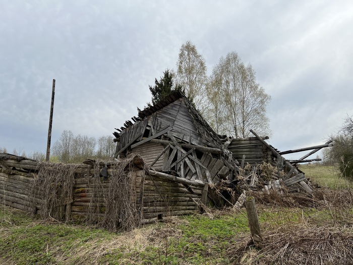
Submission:
[[[351,185],[332,167],[300,168],[313,183],[334,188],[337,195]],[[346,228],[353,220],[351,207],[257,207],[265,234],[290,225]],[[249,239],[245,209],[212,210],[112,233],[83,224],[39,221],[0,208],[0,264],[232,264],[236,257],[230,249]]]

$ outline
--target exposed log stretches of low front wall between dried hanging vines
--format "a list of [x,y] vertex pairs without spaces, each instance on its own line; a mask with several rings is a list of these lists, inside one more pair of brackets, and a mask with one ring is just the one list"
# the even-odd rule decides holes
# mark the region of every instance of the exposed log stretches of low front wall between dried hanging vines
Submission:
[[[34,165],[35,163],[31,162],[25,167],[35,168]],[[68,198],[65,205],[60,205],[66,215],[62,220],[98,222],[104,218],[111,177],[95,177],[90,173],[87,174],[89,170],[89,168],[79,169],[75,174],[72,198]],[[139,168],[133,168],[128,174],[133,183],[130,203],[136,206],[142,221],[199,211],[198,202],[202,198],[202,186],[185,185],[178,181],[146,175],[145,170]],[[35,177],[35,173],[24,173],[20,169],[8,170],[0,167],[1,203],[40,215],[43,201],[41,198],[31,196]],[[204,193],[207,194],[207,189]],[[35,210],[31,208],[34,200],[36,201]],[[69,218],[67,218],[68,215]]]

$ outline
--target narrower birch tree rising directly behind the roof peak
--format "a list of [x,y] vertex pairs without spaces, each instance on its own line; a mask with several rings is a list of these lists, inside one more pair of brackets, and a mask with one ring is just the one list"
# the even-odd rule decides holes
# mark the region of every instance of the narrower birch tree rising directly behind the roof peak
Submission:
[[182,85],[186,95],[201,113],[204,109],[205,86],[207,82],[206,62],[196,49],[187,41],[179,51],[177,62],[177,80]]

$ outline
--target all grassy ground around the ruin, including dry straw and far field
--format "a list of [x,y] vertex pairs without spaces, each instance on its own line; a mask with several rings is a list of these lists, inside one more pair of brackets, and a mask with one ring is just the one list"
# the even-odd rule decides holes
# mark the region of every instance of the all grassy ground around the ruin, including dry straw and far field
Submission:
[[349,183],[330,167],[306,165],[301,170],[323,188],[317,188],[312,198],[272,193],[258,200],[264,238],[258,246],[251,244],[244,208],[208,209],[203,215],[167,218],[163,223],[113,233],[36,220],[3,205],[0,263],[352,264]]

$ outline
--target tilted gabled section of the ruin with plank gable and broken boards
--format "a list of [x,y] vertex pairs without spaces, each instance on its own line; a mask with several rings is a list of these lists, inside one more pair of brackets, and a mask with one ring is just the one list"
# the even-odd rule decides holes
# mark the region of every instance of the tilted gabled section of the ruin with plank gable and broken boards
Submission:
[[224,205],[215,189],[237,181],[238,162],[183,92],[172,92],[132,120],[113,133],[114,157],[139,154],[156,172],[206,183],[211,189],[205,202]]

